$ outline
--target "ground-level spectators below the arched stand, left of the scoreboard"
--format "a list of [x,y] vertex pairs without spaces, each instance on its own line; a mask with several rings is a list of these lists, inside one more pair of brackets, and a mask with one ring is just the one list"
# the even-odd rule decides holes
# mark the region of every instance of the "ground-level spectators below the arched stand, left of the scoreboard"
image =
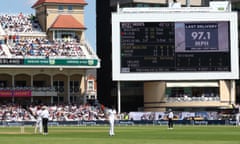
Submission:
[[[36,121],[36,111],[43,105],[22,106],[18,104],[1,104],[1,121]],[[50,121],[106,120],[101,106],[84,104],[49,105]]]

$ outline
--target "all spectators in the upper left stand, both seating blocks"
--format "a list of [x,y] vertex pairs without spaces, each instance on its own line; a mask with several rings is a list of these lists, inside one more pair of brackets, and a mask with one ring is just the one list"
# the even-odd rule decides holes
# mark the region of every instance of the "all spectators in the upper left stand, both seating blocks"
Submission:
[[[11,56],[24,57],[82,57],[85,58],[88,50],[84,51],[84,44],[78,38],[62,38],[49,41],[45,37],[34,37],[31,33],[42,32],[38,20],[34,15],[0,14],[0,28],[5,32],[2,44],[6,44]],[[20,33],[29,37],[21,38]],[[0,47],[0,56],[6,56]]]

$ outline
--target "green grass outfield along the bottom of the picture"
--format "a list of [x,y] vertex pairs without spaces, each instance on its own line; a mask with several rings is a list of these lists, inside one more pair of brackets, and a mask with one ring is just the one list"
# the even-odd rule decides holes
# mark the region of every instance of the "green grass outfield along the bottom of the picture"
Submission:
[[1,144],[240,144],[240,127],[116,126],[108,136],[107,126],[49,127],[49,135],[34,134],[34,127],[0,127]]

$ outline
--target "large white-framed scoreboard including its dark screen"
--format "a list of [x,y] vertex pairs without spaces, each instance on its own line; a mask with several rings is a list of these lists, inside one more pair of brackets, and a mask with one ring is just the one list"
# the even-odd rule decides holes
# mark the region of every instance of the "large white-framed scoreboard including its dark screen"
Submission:
[[238,78],[236,13],[112,16],[114,80]]

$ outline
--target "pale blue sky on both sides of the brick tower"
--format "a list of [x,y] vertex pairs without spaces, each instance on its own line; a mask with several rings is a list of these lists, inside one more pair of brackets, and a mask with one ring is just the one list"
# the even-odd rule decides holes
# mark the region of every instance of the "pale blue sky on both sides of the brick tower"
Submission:
[[[34,9],[31,7],[36,1],[37,0],[1,0],[0,13],[18,14],[22,12],[24,14],[35,14]],[[85,37],[96,51],[96,0],[85,1],[88,3],[88,5],[85,6],[85,26],[87,27]]]

